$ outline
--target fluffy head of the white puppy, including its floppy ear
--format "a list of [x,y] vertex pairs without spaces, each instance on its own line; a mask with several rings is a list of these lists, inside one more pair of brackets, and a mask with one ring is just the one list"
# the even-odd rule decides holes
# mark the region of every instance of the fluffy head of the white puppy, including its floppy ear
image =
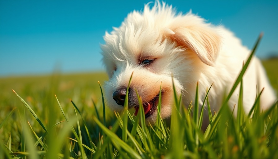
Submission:
[[162,84],[161,116],[169,117],[173,82],[177,93],[188,91],[189,85],[195,86],[199,70],[214,65],[220,39],[214,27],[204,19],[191,12],[176,15],[172,6],[165,3],[155,2],[152,9],[147,4],[143,12],[133,11],[119,28],[110,34],[106,32],[106,43],[101,46],[110,78],[105,84],[106,105],[118,112],[123,110],[133,72],[128,108],[137,109],[137,90],[146,121],[154,123]]

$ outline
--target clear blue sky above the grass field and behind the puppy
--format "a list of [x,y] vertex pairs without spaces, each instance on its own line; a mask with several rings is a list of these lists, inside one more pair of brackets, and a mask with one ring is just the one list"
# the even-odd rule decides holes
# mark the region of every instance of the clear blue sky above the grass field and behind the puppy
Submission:
[[[149,1],[0,0],[0,76],[104,70],[105,31]],[[278,0],[166,2],[226,26],[248,48],[263,31],[257,56],[277,55]]]

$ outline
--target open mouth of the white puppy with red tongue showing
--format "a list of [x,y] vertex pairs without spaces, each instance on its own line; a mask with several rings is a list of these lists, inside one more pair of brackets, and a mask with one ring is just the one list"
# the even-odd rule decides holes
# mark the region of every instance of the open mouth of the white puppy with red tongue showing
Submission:
[[[158,98],[159,98],[159,93],[153,99],[151,99],[149,102],[143,103],[145,118],[148,118],[155,112],[155,109],[156,109],[155,105],[158,104]],[[139,111],[139,106],[134,107],[134,108],[135,108],[134,115],[137,116],[137,113]]]

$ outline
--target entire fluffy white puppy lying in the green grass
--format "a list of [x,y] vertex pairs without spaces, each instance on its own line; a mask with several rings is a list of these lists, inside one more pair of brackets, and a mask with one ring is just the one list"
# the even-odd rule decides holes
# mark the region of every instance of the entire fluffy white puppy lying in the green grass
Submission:
[[[110,34],[106,32],[104,39],[103,63],[110,78],[105,84],[106,105],[113,111],[123,110],[133,72],[128,108],[138,111],[137,90],[147,123],[156,120],[161,82],[163,119],[171,116],[172,82],[177,93],[182,93],[185,106],[194,103],[197,82],[200,106],[207,87],[213,84],[208,98],[212,110],[219,110],[223,96],[231,89],[251,52],[223,26],[205,23],[191,12],[176,14],[172,6],[158,1],[152,8],[147,4],[144,11],[128,14],[119,28]],[[264,110],[275,102],[276,95],[257,57],[251,60],[243,84],[245,112],[250,111],[255,101],[256,85],[259,91],[264,88],[260,98]],[[237,88],[229,100],[231,109],[238,103],[238,94]]]

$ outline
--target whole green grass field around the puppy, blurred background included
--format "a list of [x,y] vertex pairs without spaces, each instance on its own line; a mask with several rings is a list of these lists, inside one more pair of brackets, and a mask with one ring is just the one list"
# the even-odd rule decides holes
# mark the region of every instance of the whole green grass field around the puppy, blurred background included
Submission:
[[[263,64],[278,90],[278,60],[273,61]],[[186,108],[176,94],[170,125],[158,113],[156,124],[146,126],[139,96],[137,117],[127,109],[105,110],[104,73],[0,78],[0,158],[278,158],[278,104],[261,113],[258,92],[253,115],[242,109],[247,66],[248,61],[235,82],[241,88],[237,116],[226,104],[232,89],[221,110],[208,113],[205,132],[204,107]],[[160,103],[161,96],[158,110]]]

